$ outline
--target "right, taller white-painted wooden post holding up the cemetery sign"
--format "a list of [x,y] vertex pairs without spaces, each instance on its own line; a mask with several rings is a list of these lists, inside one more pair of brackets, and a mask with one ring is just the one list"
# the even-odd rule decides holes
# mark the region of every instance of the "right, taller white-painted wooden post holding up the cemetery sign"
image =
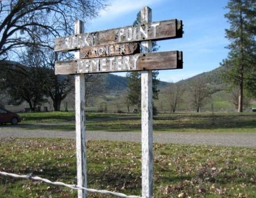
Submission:
[[[152,22],[149,7],[141,9],[141,23]],[[152,42],[141,43],[142,52],[152,51]],[[152,71],[141,71],[142,197],[153,197]]]

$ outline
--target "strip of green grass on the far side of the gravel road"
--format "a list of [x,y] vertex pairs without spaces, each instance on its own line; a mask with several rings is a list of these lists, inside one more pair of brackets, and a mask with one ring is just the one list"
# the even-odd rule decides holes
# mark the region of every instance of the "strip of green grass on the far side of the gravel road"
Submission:
[[[22,129],[75,130],[74,112],[20,113],[20,116],[24,118],[20,123]],[[159,114],[154,116],[153,128],[154,132],[256,132],[256,113]],[[139,132],[141,117],[125,113],[86,113],[86,129]]]

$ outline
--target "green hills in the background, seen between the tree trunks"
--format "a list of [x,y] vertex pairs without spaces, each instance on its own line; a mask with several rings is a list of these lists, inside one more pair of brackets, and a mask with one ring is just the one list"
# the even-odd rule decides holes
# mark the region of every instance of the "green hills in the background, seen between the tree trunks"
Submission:
[[[208,89],[210,91],[210,97],[207,103],[204,105],[204,109],[210,109],[213,103],[216,109],[234,109],[234,105],[231,102],[231,96],[226,91],[228,86],[222,81],[221,74],[225,72],[224,67],[216,68],[212,71],[204,72],[194,77],[184,79],[182,81],[176,82],[175,84],[187,87],[187,91],[183,94],[183,102],[179,104],[179,109],[183,111],[190,111],[192,109],[190,104],[190,95],[188,87],[192,85],[192,82],[196,79],[203,79],[204,83],[207,83]],[[127,78],[121,77],[115,74],[97,74],[101,78],[98,78],[98,85],[101,89],[98,91],[96,96],[93,96],[88,100],[88,106],[92,106],[92,110],[105,108],[108,106],[108,111],[127,111],[125,104],[125,92],[127,91]],[[168,99],[168,87],[170,83],[159,81],[158,89],[159,100],[156,100],[155,106],[159,111],[170,111],[170,104]],[[62,102],[62,106],[68,103],[73,106],[74,93],[68,95],[68,97]],[[1,96],[1,94],[0,94]],[[250,107],[255,107],[255,100],[252,102]],[[133,109],[136,107],[130,107]]]

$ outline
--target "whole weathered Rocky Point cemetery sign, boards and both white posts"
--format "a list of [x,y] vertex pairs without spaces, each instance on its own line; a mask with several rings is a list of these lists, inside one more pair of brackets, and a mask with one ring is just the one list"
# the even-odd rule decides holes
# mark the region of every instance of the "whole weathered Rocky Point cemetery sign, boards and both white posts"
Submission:
[[[182,69],[179,51],[152,52],[151,40],[183,35],[181,20],[152,22],[149,7],[141,10],[141,24],[84,33],[75,22],[75,35],[55,39],[55,52],[75,50],[75,60],[56,61],[55,74],[75,74],[77,184],[86,187],[85,78],[88,73],[141,71],[142,197],[153,197],[152,70]],[[140,52],[140,49],[142,51]],[[78,191],[85,198],[84,190]]]

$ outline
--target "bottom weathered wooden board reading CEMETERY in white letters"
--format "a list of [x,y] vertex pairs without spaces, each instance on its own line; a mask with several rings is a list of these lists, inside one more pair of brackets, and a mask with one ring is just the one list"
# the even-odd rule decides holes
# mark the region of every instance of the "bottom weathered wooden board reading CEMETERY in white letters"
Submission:
[[182,69],[182,52],[139,53],[130,56],[88,58],[55,62],[55,74]]

